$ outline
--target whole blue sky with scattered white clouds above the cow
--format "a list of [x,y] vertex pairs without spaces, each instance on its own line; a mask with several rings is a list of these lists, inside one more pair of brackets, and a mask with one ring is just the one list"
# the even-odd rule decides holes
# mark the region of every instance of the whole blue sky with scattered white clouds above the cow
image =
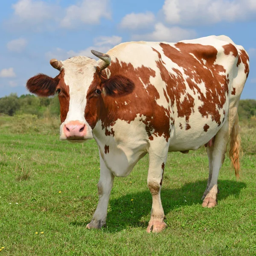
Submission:
[[26,91],[49,60],[92,57],[125,41],[227,35],[250,56],[242,99],[256,99],[256,0],[6,0],[0,4],[0,97]]

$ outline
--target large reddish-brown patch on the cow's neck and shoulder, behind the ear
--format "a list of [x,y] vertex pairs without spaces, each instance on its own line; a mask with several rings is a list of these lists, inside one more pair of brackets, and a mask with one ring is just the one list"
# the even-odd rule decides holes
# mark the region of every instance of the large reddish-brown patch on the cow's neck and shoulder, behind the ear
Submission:
[[[150,77],[156,76],[155,71],[144,66],[134,68],[131,63],[125,63],[118,59],[111,62],[108,68],[111,77],[113,76],[113,81],[115,77],[120,77],[122,74],[122,77],[125,77],[127,81],[132,81],[135,86],[132,92],[118,97],[102,93],[95,107],[97,108],[97,119],[102,122],[102,129],[113,126],[117,119],[130,123],[139,116],[141,117],[140,121],[145,124],[149,140],[153,140],[154,135],[156,137],[163,136],[168,141],[170,111],[156,102],[160,96],[154,85],[150,83]],[[91,84],[90,87],[92,86]],[[129,102],[129,104],[125,105],[124,102]],[[111,135],[111,132],[106,129],[105,134]]]

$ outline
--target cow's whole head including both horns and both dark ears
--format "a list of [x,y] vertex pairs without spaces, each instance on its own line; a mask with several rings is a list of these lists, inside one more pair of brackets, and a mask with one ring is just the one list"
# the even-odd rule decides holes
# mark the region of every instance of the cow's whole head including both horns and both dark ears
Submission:
[[92,139],[103,97],[126,94],[134,89],[133,82],[128,78],[119,75],[107,79],[106,75],[102,76],[102,70],[111,63],[111,57],[93,50],[92,53],[101,60],[97,62],[84,56],[66,61],[52,59],[52,67],[60,71],[58,76],[52,78],[38,74],[27,81],[28,90],[38,96],[58,93],[61,140],[81,142]]

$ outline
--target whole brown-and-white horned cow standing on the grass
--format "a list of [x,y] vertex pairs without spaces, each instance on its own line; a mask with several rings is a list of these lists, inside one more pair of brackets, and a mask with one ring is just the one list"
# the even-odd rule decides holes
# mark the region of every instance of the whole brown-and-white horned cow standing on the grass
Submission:
[[99,58],[51,59],[55,78],[38,74],[26,87],[38,96],[58,93],[60,140],[95,139],[99,148],[99,202],[87,228],[106,224],[114,177],[126,177],[149,154],[147,185],[152,195],[148,232],[165,229],[160,199],[168,152],[202,145],[209,178],[202,206],[215,207],[218,173],[230,137],[230,159],[239,176],[237,108],[249,73],[249,57],[227,36],[177,43],[126,42]]

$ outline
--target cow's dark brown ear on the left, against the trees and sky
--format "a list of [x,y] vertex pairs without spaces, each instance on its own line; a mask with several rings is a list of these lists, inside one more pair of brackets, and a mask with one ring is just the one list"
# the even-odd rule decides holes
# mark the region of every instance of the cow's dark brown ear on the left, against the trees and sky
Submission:
[[38,74],[27,81],[26,87],[31,93],[48,97],[55,94],[58,82],[58,76],[52,78],[44,74]]

